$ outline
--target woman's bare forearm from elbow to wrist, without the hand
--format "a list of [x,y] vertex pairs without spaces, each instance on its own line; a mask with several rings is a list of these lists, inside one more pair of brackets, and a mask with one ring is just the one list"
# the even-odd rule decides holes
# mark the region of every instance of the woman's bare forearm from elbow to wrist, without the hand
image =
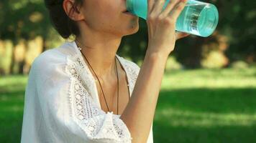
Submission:
[[132,98],[120,119],[127,125],[132,142],[147,142],[168,56],[146,54]]

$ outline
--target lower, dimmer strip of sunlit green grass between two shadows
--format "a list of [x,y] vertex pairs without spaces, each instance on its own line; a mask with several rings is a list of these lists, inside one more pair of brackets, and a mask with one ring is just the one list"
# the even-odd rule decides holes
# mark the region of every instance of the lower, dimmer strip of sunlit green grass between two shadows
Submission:
[[216,114],[211,112],[193,112],[180,109],[162,109],[156,113],[155,121],[165,120],[173,127],[216,127],[216,126],[252,126],[256,125],[255,114]]

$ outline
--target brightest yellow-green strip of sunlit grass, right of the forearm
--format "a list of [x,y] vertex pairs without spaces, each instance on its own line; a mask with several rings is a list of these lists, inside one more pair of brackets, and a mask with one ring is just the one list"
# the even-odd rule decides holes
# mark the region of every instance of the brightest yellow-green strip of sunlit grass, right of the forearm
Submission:
[[256,88],[256,68],[234,69],[196,69],[173,71],[165,74],[162,89],[191,88]]

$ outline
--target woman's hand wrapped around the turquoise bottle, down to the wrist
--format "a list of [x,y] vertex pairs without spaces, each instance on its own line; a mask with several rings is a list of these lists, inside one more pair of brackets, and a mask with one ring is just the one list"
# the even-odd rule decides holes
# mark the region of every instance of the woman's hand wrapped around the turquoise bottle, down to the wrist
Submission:
[[170,0],[163,10],[165,0],[147,0],[147,52],[168,56],[175,41],[188,34],[175,31],[175,24],[187,0]]

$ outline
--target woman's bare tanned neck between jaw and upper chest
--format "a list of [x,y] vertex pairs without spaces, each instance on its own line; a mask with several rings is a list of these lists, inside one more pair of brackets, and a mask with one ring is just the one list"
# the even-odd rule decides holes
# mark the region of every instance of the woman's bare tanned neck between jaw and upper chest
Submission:
[[[86,31],[86,34],[76,38],[76,44],[98,77],[115,75],[115,57],[121,37]],[[117,62],[117,61],[116,61]]]

